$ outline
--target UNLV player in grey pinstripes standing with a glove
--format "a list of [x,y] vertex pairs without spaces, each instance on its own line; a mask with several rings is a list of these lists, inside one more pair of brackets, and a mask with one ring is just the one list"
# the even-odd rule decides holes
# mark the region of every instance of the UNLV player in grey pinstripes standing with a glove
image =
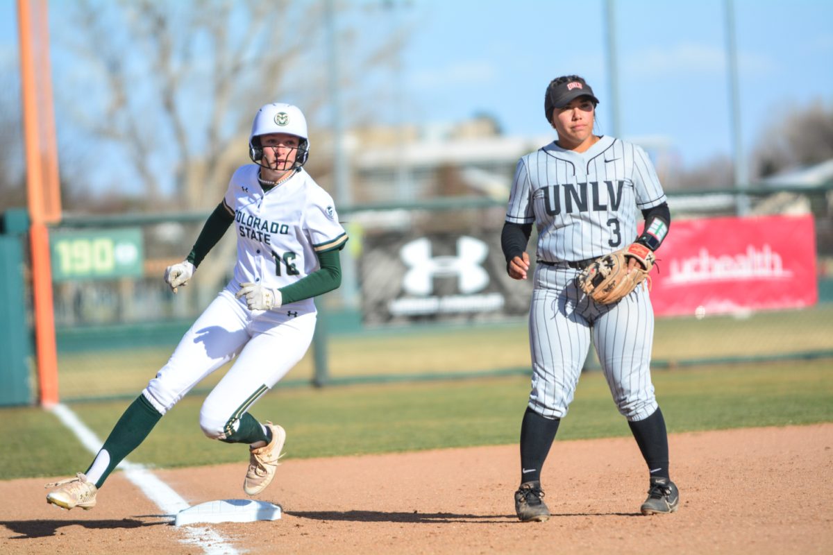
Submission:
[[[578,76],[554,79],[546,89],[547,121],[558,140],[518,161],[501,243],[507,271],[526,280],[526,243],[538,232],[529,316],[532,383],[521,424],[521,521],[543,521],[541,468],[561,418],[573,399],[581,368],[596,347],[607,384],[630,424],[650,473],[641,512],[673,513],[679,502],[668,474],[665,421],[651,384],[654,315],[646,287],[601,305],[576,286],[592,260],[639,242],[656,250],[670,225],[666,195],[639,146],[593,128],[598,99]],[[637,209],[646,231],[637,237]],[[638,264],[631,260],[631,267]]]

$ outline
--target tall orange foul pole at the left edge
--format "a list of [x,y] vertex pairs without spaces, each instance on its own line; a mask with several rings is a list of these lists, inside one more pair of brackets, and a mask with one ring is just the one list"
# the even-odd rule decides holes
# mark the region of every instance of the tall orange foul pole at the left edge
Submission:
[[[32,10],[34,7],[34,20]],[[52,70],[49,64],[45,0],[17,0],[23,135],[26,144],[27,203],[32,227],[32,296],[35,350],[42,405],[56,404],[57,345],[52,310],[52,260],[47,224],[61,220],[57,141],[52,110]]]

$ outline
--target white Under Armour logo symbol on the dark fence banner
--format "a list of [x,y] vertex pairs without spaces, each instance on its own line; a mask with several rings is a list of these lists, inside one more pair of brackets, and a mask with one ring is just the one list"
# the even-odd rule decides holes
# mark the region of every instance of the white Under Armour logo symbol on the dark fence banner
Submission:
[[489,285],[481,266],[488,252],[483,241],[463,236],[457,240],[456,256],[431,257],[431,241],[414,240],[402,247],[402,261],[409,268],[402,286],[411,295],[429,295],[434,277],[456,277],[462,294],[475,293]]

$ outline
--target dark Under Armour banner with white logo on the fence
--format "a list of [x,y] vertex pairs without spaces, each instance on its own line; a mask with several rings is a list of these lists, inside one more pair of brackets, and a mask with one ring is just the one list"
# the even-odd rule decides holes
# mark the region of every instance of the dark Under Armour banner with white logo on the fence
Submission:
[[367,324],[491,320],[529,310],[531,280],[506,275],[500,235],[368,235],[361,261]]

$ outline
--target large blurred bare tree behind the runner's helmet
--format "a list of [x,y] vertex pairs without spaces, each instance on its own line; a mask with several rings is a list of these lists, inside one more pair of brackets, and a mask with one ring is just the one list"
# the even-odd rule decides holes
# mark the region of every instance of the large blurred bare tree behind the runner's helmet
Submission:
[[[294,100],[312,125],[320,121],[329,101],[323,7],[289,0],[58,6],[53,18],[62,25],[53,38],[77,65],[63,68],[56,96],[63,94],[95,145],[73,181],[107,161],[116,168],[113,186],[139,191],[148,209],[216,205],[233,169],[247,161],[257,107]],[[357,33],[347,25],[338,32],[342,58],[354,66],[392,56],[382,40],[352,60]],[[342,71],[341,86],[357,74]]]

